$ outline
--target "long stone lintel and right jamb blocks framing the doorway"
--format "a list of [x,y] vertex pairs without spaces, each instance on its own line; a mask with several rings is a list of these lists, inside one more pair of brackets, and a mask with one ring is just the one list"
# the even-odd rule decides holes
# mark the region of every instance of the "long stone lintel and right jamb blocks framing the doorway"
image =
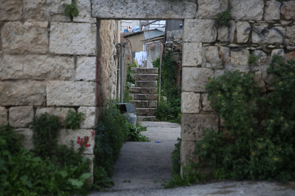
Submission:
[[[144,8],[140,11],[128,8]],[[199,114],[200,93],[206,92],[208,77],[214,77],[209,68],[201,68],[202,42],[212,42],[216,39],[217,30],[214,20],[199,25],[197,18],[197,2],[168,0],[91,0],[91,15],[102,19],[161,19],[183,20],[183,56],[182,56],[182,93],[181,93],[181,161],[184,164],[190,160],[198,161],[194,154],[195,142],[202,137],[205,124],[212,124],[212,129],[218,129],[217,114]],[[203,37],[197,37],[196,31],[202,31]],[[99,29],[97,30],[99,32]],[[209,36],[207,36],[209,34]],[[97,57],[100,51],[97,51]],[[202,122],[206,121],[206,122]],[[199,123],[201,122],[201,123]],[[211,126],[211,125],[210,125]],[[198,127],[198,128],[197,128]]]

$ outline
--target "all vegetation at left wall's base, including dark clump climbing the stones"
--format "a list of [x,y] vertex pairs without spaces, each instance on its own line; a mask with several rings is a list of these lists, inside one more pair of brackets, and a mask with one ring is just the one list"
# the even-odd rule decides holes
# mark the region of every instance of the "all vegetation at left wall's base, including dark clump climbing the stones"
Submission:
[[[88,159],[56,145],[58,117],[45,113],[32,125],[32,152],[21,146],[22,137],[12,127],[0,127],[0,195],[87,195]],[[52,150],[60,150],[55,162],[50,161]]]

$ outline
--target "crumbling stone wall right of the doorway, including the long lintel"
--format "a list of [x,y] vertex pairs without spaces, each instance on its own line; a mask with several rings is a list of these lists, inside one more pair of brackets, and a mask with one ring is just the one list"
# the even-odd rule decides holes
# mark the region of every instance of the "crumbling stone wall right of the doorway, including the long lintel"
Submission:
[[[255,72],[260,91],[271,88],[266,75],[271,56],[295,57],[295,1],[230,0],[229,27],[218,26],[217,13],[227,9],[227,0],[92,0],[92,16],[103,19],[184,19],[181,99],[181,160],[198,162],[194,144],[202,130],[219,129],[217,112],[207,101],[208,77],[240,69]],[[125,7],[142,6],[140,13],[125,12]],[[150,9],[149,9],[150,8]],[[115,10],[115,11],[112,11]],[[172,44],[172,43],[171,43]],[[258,56],[249,64],[250,53]]]

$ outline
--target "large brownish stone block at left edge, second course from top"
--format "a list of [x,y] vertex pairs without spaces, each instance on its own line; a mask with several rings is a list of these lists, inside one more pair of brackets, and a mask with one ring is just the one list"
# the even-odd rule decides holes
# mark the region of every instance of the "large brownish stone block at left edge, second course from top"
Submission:
[[3,51],[23,54],[48,52],[48,22],[7,22],[2,27]]

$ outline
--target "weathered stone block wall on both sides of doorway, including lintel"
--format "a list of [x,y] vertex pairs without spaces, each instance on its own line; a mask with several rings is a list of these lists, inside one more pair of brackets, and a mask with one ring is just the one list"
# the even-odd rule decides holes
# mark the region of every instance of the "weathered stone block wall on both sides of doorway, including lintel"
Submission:
[[[201,129],[217,131],[222,126],[207,101],[207,77],[217,78],[224,71],[236,69],[253,72],[264,92],[272,88],[266,74],[271,57],[295,58],[294,0],[230,0],[229,27],[219,26],[215,20],[217,13],[227,9],[226,0],[77,0],[80,15],[73,21],[63,16],[63,3],[71,0],[11,0],[0,4],[0,122],[19,127],[16,130],[25,133],[24,145],[30,148],[32,134],[27,123],[37,109],[54,110],[58,106],[86,112],[87,123],[77,132],[81,135],[69,136],[83,137],[95,124],[93,119],[103,100],[115,97],[116,21],[100,19],[184,20],[184,163],[198,161],[192,152],[194,143],[201,139]],[[93,17],[100,19],[96,22]],[[255,65],[248,64],[252,53],[258,56]],[[74,100],[66,97],[71,96],[70,89],[81,96],[73,95]],[[24,112],[30,115],[23,118]],[[92,156],[91,148],[87,153]]]

